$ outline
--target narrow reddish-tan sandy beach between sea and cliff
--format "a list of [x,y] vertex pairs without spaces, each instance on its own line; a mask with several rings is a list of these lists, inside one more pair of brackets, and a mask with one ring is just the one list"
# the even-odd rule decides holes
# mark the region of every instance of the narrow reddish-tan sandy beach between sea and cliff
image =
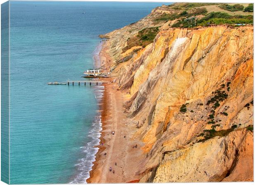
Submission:
[[[105,52],[104,44],[100,52],[100,63],[105,68],[110,68],[111,58]],[[95,66],[98,66],[99,63]],[[109,83],[104,84],[105,91],[100,103],[102,112],[102,132],[99,151],[96,161],[93,162],[92,171],[88,183],[126,183],[137,182],[135,175],[139,171],[138,162],[141,161],[142,143],[131,140],[135,131],[135,122],[124,113],[125,94],[118,90],[118,85],[113,78],[107,79]],[[114,131],[114,135],[112,134]],[[137,144],[137,148],[133,148]],[[104,155],[106,153],[106,155]],[[109,171],[109,168],[112,171]]]

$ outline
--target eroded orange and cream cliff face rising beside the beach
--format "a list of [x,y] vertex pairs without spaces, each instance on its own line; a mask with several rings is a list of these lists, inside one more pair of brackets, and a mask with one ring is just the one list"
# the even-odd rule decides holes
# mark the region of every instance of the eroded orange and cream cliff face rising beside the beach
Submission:
[[[116,61],[122,29],[106,43]],[[145,143],[140,182],[253,180],[253,26],[160,29],[113,69]]]

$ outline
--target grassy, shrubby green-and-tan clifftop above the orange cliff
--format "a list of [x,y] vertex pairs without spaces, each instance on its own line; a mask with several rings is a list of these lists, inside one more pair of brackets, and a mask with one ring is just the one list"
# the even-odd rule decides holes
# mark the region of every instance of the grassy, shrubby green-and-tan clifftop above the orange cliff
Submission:
[[[244,14],[245,12],[253,12],[253,4],[249,4],[248,7],[245,8],[244,5],[245,4],[174,3],[168,7],[175,13],[161,14],[154,21],[172,21],[177,19],[177,22],[172,25],[174,28],[192,28],[197,26],[208,26],[210,24],[253,23],[253,15],[239,15]],[[210,8],[208,9],[208,7],[214,7],[214,10],[211,10]],[[209,12],[207,12],[207,10]],[[228,12],[230,12],[230,14],[228,14]],[[236,15],[231,15],[232,12],[238,13],[236,13]],[[199,18],[197,17],[198,15],[204,15],[204,17]]]

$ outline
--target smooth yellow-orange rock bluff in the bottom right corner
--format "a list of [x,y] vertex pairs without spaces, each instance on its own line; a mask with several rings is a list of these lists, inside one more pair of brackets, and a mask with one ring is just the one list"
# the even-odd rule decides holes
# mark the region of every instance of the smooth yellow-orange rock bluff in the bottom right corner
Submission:
[[252,181],[248,175],[253,169],[252,141],[252,133],[242,129],[165,152],[153,182]]

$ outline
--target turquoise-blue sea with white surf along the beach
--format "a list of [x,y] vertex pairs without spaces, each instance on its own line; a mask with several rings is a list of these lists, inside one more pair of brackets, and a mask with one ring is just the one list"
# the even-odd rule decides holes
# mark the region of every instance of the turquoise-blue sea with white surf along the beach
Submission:
[[[83,80],[99,34],[163,3],[10,2],[10,183],[83,183],[99,141],[95,97]],[[86,14],[82,14],[86,12]]]

